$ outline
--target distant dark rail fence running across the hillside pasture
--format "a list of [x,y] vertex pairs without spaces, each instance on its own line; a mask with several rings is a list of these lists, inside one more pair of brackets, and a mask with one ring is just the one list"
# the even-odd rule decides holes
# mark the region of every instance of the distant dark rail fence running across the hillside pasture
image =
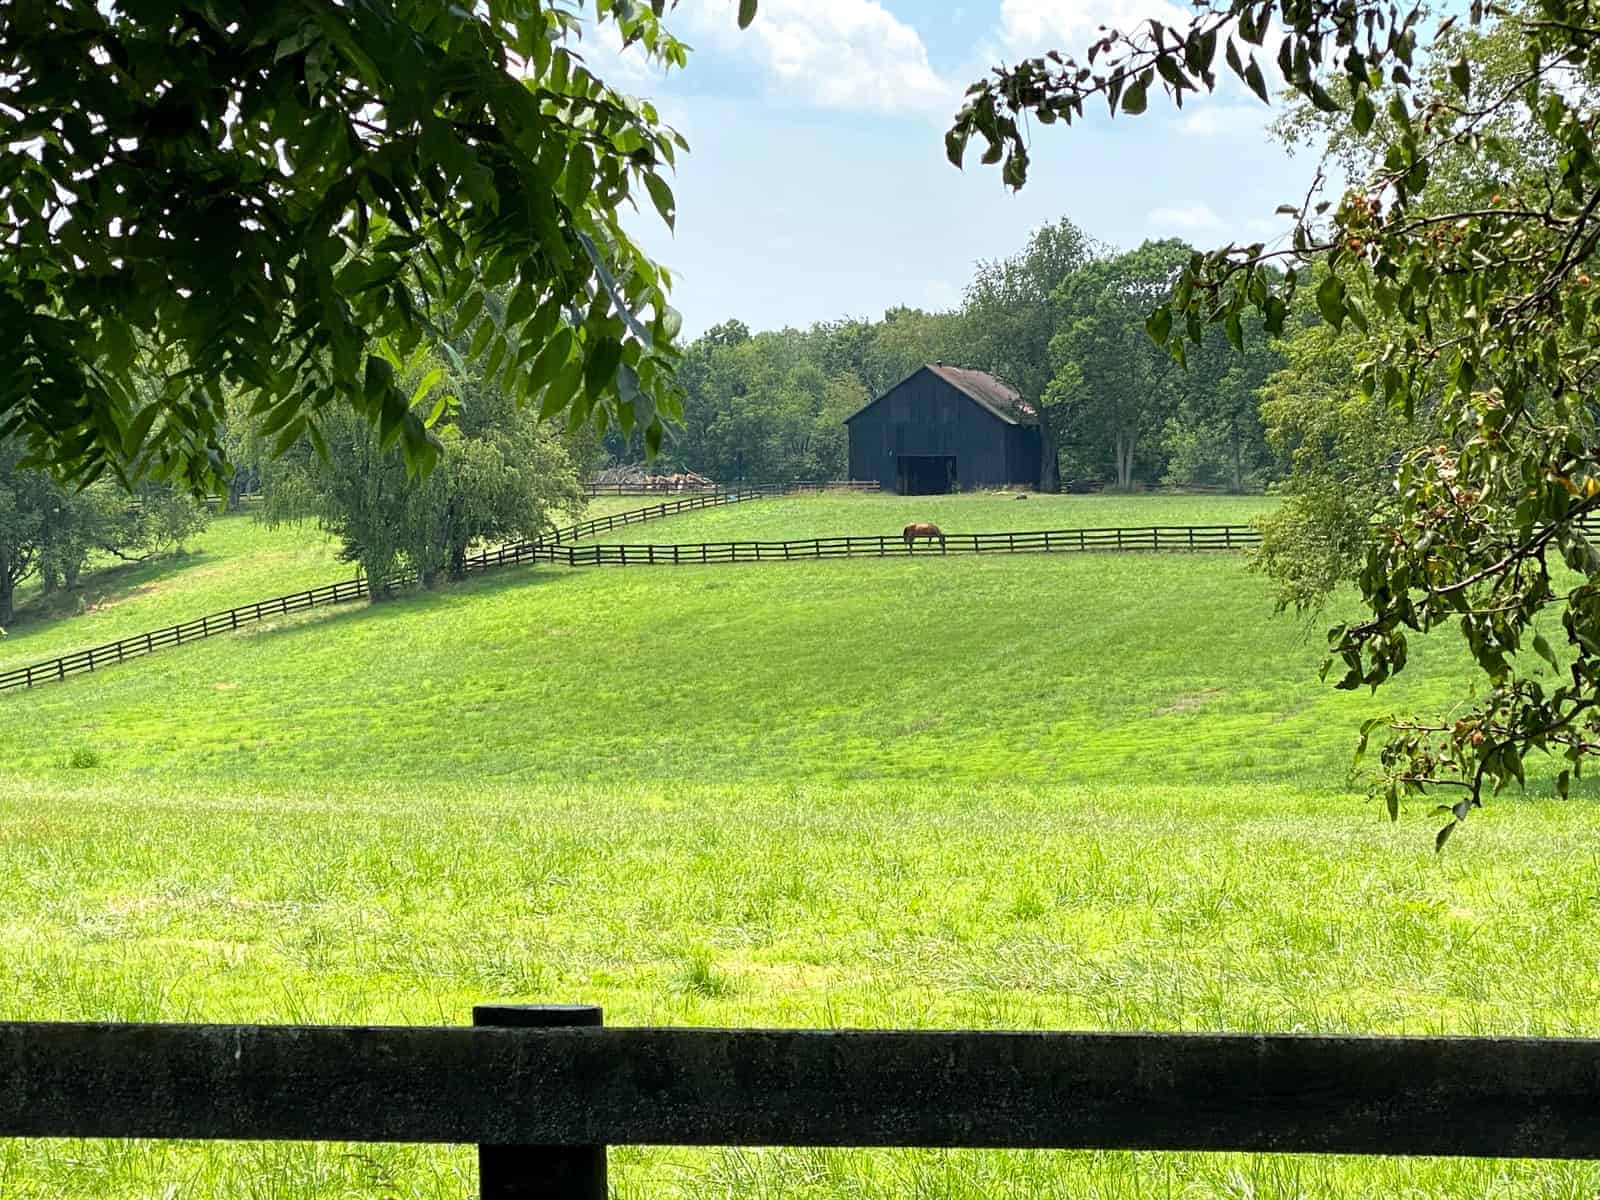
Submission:
[[[602,517],[586,525],[608,528],[630,525],[648,520],[640,514],[653,517],[667,515],[662,509],[675,506],[715,507],[717,504],[734,504],[754,499],[760,493],[738,493],[723,498],[704,496],[674,504],[651,506],[630,514]],[[634,520],[624,520],[632,517]],[[581,526],[571,526],[573,530]],[[563,531],[557,531],[563,533]],[[906,542],[899,536],[840,536],[840,538],[800,538],[794,541],[763,542],[688,542],[674,546],[651,544],[616,544],[616,546],[574,546],[555,541],[517,542],[482,550],[466,560],[469,574],[490,571],[501,566],[517,566],[522,563],[554,563],[558,566],[688,566],[709,563],[770,563],[770,562],[805,562],[821,558],[894,558],[925,557],[949,554],[1069,554],[1069,552],[1203,552],[1203,550],[1243,550],[1261,544],[1261,533],[1250,525],[1176,525],[1149,526],[1136,530],[1021,530],[1011,533],[950,533],[941,542]],[[397,590],[416,582],[416,576],[405,573],[389,579],[384,590]],[[16,667],[0,672],[0,691],[10,688],[32,688],[40,683],[59,682],[67,675],[93,672],[115,662],[126,662],[131,658],[144,658],[166,646],[181,646],[189,642],[200,642],[218,634],[232,634],[245,626],[266,621],[269,618],[288,616],[307,608],[325,605],[342,605],[362,600],[368,595],[366,579],[346,579],[336,584],[310,587],[304,592],[238,605],[221,613],[211,613],[195,621],[149,634],[136,634],[117,642],[107,642],[91,650],[78,650],[46,662],[29,667]]]

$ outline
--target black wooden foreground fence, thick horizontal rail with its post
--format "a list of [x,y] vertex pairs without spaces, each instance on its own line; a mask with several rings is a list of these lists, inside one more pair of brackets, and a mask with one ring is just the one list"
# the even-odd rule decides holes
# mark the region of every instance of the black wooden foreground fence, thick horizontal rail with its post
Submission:
[[1600,1042],[0,1024],[0,1136],[477,1144],[480,1197],[603,1200],[608,1146],[1600,1158]]

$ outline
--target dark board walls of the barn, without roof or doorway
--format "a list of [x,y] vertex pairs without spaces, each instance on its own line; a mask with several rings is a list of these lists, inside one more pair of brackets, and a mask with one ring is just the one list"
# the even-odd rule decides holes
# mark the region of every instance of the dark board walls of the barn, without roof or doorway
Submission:
[[963,490],[1038,483],[1038,429],[1002,421],[926,368],[901,381],[850,422],[850,478],[899,483],[898,459],[955,456]]

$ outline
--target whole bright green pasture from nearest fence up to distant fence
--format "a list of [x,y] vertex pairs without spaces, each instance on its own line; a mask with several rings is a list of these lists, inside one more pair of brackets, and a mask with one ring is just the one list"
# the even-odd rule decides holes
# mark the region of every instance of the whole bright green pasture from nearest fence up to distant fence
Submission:
[[[1317,685],[1318,656],[1222,555],[539,570],[0,698],[0,1019],[582,1000],[613,1024],[1600,1034],[1592,798],[1533,771],[1435,856],[1426,805],[1390,826],[1346,781],[1350,739],[1467,664],[1418,646],[1374,701]],[[1600,1187],[1256,1155],[611,1166],[618,1195],[696,1198]],[[0,1142],[8,1198],[454,1200],[472,1171]]]

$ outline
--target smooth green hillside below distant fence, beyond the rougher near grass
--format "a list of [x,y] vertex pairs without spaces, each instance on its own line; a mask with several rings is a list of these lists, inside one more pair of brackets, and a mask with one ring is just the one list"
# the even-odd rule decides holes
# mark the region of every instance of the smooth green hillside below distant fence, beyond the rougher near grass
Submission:
[[[1342,781],[1230,555],[515,570],[5,698],[0,758],[299,778]],[[1462,680],[1422,653],[1387,702]]]

